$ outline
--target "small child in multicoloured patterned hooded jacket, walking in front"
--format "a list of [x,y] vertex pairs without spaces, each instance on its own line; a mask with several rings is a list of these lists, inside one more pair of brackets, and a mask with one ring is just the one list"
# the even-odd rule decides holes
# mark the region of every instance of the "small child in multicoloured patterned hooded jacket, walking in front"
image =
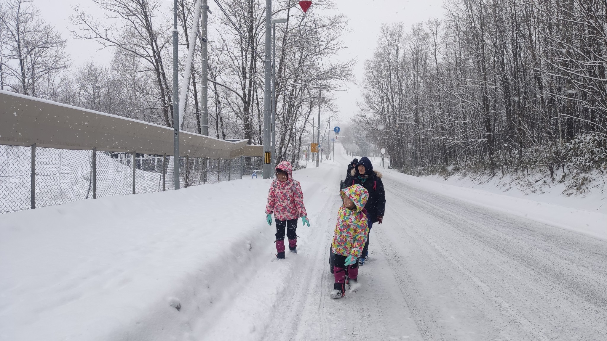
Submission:
[[358,287],[358,258],[367,241],[368,218],[364,207],[369,192],[359,184],[346,187],[339,192],[344,204],[337,212],[337,224],[333,235],[335,262],[333,274],[335,284],[331,297],[339,299],[345,295],[346,275],[351,291]]

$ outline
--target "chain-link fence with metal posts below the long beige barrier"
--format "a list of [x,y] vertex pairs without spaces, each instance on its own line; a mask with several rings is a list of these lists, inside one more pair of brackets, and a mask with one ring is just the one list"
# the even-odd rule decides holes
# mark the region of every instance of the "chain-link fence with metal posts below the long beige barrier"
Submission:
[[[180,186],[241,179],[262,161],[181,157]],[[173,189],[173,164],[164,155],[0,145],[0,213]]]

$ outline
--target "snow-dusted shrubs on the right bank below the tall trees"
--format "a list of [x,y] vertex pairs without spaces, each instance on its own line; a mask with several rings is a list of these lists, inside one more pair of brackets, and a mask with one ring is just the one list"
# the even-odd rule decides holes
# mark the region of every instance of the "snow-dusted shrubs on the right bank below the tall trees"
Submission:
[[[500,149],[493,154],[468,156],[456,164],[424,164],[415,169],[399,169],[416,176],[439,175],[445,179],[458,175],[475,183],[492,181],[503,191],[512,188],[524,193],[541,193],[564,184],[565,195],[603,191],[607,173],[607,137],[598,133],[580,134],[567,143],[531,146],[520,150]],[[599,181],[602,179],[602,181]]]

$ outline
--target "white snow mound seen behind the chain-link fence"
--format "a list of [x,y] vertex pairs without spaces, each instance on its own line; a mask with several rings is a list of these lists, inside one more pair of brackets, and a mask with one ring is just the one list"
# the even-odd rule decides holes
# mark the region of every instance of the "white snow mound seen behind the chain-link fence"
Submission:
[[[131,156],[110,157],[97,152],[97,197],[132,193]],[[52,206],[92,198],[90,150],[36,148],[36,207]],[[124,158],[126,157],[126,158]],[[149,157],[149,155],[146,155]],[[141,157],[138,162],[143,162]],[[136,169],[137,193],[157,192],[162,188],[162,163],[156,172]],[[30,147],[0,145],[0,212],[30,208],[32,155]],[[169,169],[169,171],[171,171]]]

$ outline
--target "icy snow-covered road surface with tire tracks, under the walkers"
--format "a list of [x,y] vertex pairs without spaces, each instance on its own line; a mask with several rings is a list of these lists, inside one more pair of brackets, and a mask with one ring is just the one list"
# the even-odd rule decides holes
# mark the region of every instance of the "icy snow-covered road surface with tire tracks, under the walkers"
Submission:
[[[339,156],[331,191],[347,164]],[[384,186],[384,224],[371,230],[362,288],[329,297],[335,196],[317,233],[289,257],[299,259],[287,260],[294,278],[265,340],[607,340],[606,241],[424,191],[398,175],[385,174]]]

